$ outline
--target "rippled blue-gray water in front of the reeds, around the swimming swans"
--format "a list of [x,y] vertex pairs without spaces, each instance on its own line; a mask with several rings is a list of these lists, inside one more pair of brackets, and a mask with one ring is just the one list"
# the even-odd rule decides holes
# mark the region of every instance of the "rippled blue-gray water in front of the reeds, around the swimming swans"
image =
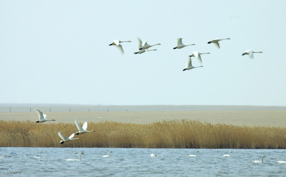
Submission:
[[[110,157],[102,157],[109,150]],[[196,150],[197,157],[188,156]],[[41,159],[33,158],[39,151]],[[81,161],[66,161],[74,152],[84,153]],[[286,177],[286,164],[277,162],[286,161],[286,149],[0,148],[5,154],[1,177]],[[263,155],[264,163],[251,162]]]

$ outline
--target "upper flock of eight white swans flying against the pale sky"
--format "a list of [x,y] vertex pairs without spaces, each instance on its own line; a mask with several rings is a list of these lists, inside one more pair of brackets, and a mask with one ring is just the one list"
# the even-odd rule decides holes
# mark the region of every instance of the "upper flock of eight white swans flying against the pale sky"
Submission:
[[[156,45],[161,45],[160,43],[154,44],[154,45],[149,45],[149,44],[147,43],[147,41],[142,42],[139,37],[138,37],[137,39],[138,39],[138,51],[137,51],[137,52],[134,52],[134,54],[143,54],[144,52],[148,52],[148,51],[156,51],[156,49],[149,50],[149,48],[150,48],[150,47],[153,47],[153,46],[156,46]],[[226,39],[230,39],[230,38],[224,38],[224,39],[215,38],[215,39],[209,41],[208,44],[213,43],[214,46],[219,49],[220,46],[219,46],[219,43],[218,43],[218,42],[221,41],[221,40],[226,40]],[[112,45],[113,45],[113,46],[117,47],[117,48],[119,49],[119,51],[121,52],[121,54],[123,55],[123,54],[124,54],[124,50],[123,50],[123,48],[122,48],[122,45],[120,44],[120,43],[122,43],[122,42],[131,42],[131,41],[120,41],[120,40],[117,40],[117,39],[116,39],[116,40],[112,41],[112,43],[109,44],[109,46],[112,46]],[[174,47],[173,49],[181,49],[181,48],[183,48],[183,47],[191,46],[191,45],[195,45],[195,44],[184,45],[184,44],[182,43],[182,38],[179,38],[179,39],[177,39],[177,46]],[[242,53],[242,56],[248,55],[250,59],[254,59],[253,53],[262,53],[262,52],[253,52],[252,50],[247,50],[247,51],[245,51],[245,52]],[[187,62],[186,62],[186,68],[184,68],[183,71],[185,71],[185,70],[190,70],[190,69],[197,68],[197,67],[203,67],[203,66],[202,66],[202,63],[203,63],[203,62],[202,62],[202,58],[201,58],[201,55],[203,55],[203,54],[210,54],[210,53],[209,53],[209,52],[208,52],[208,53],[199,53],[199,52],[197,52],[197,51],[196,51],[196,52],[193,52],[193,53],[188,57],[188,60],[187,60]],[[196,67],[193,66],[193,65],[192,65],[192,59],[191,59],[191,57],[197,58],[201,65],[200,65],[200,66],[196,66]]]

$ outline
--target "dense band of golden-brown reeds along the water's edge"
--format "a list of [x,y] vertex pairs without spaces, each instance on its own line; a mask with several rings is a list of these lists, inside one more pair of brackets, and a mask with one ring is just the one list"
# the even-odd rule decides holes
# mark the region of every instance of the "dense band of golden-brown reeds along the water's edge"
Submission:
[[[83,122],[80,124],[82,125]],[[286,148],[286,128],[211,124],[197,120],[164,120],[149,124],[89,122],[80,140],[60,144],[57,132],[69,137],[73,123],[0,120],[0,147],[79,148]]]

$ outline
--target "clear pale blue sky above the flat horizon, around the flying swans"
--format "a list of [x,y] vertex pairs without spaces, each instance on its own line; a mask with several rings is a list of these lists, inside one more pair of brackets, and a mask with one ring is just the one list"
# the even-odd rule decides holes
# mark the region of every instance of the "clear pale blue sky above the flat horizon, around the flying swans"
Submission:
[[[0,103],[286,106],[286,1],[0,0]],[[134,55],[137,37],[157,51]],[[173,50],[176,39],[184,44]],[[214,38],[220,49],[207,44]],[[125,55],[114,46],[122,43]],[[241,54],[262,51],[254,59]],[[203,66],[185,68],[188,55]],[[197,59],[192,59],[198,66]]]

